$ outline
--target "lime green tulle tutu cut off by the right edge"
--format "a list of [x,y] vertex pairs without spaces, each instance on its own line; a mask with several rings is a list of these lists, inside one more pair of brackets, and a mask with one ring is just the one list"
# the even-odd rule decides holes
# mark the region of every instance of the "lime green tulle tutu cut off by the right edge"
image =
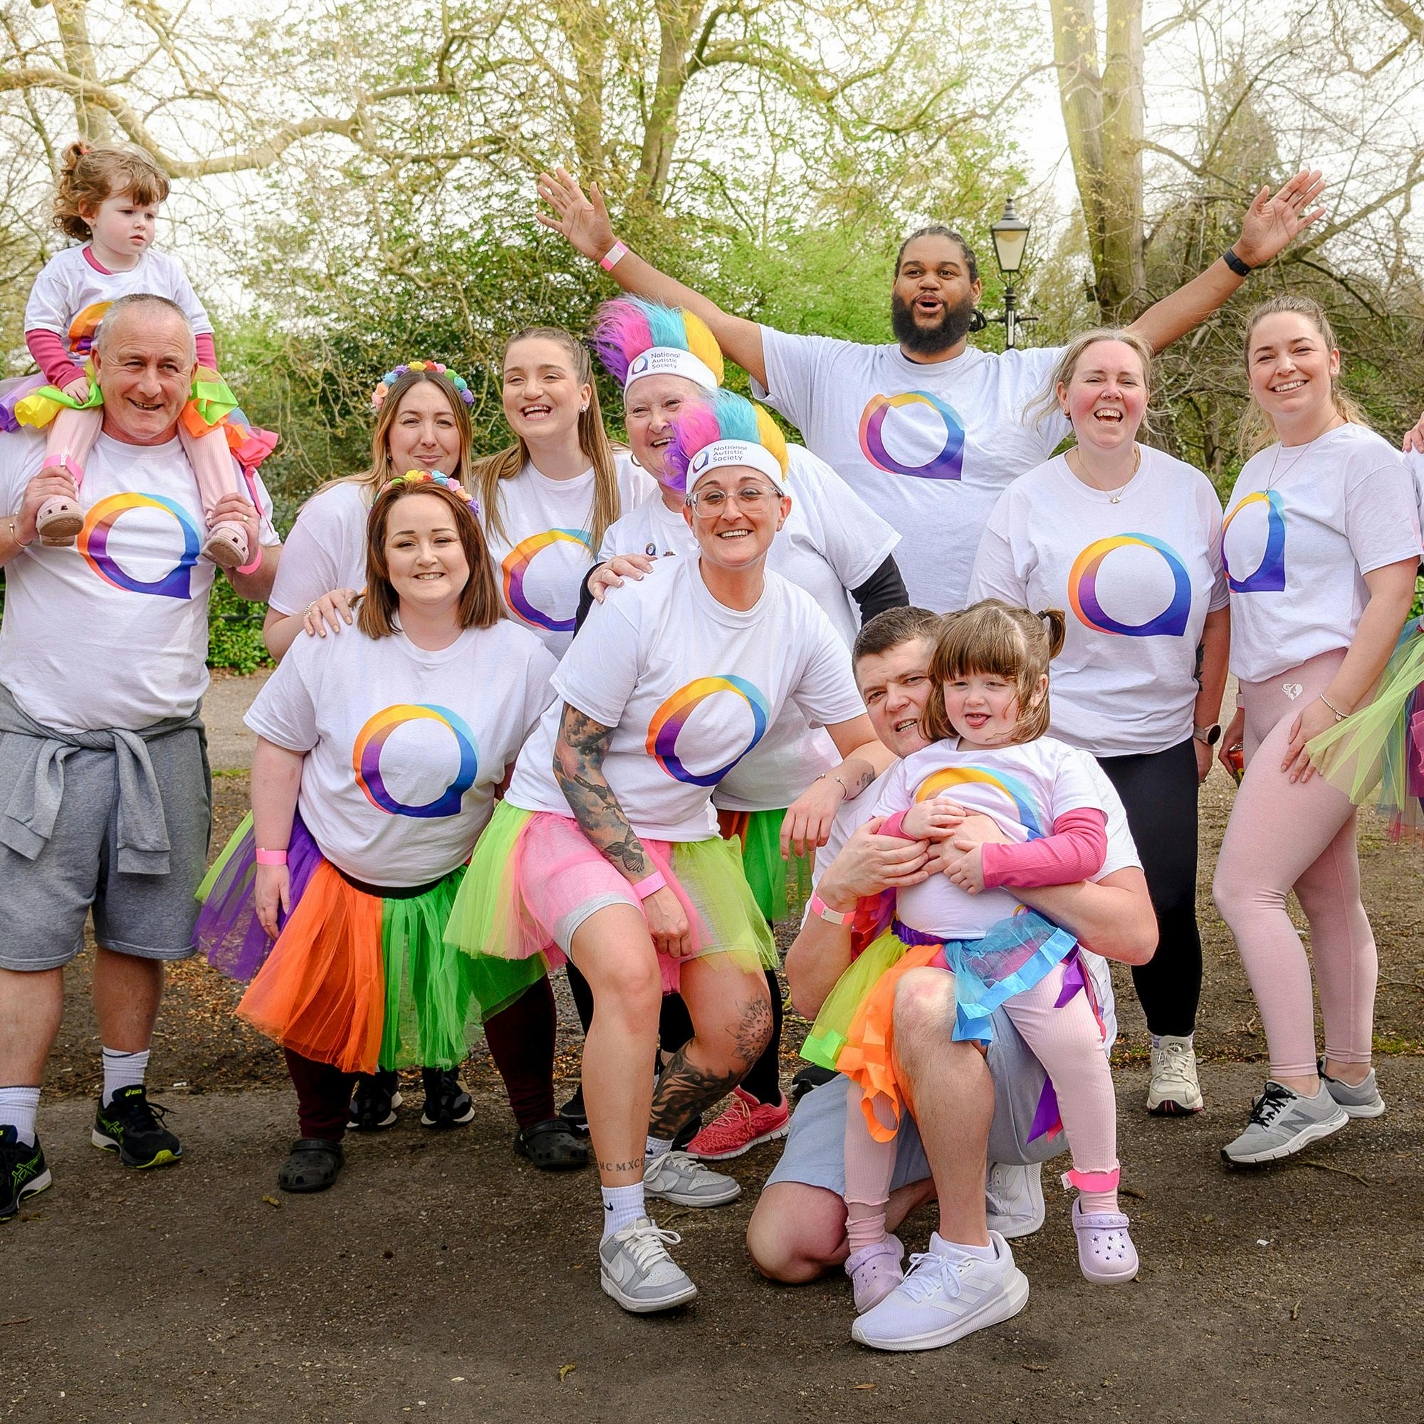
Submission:
[[1390,834],[1424,832],[1424,618],[1410,619],[1368,706],[1306,743],[1320,775],[1356,806],[1378,786]]

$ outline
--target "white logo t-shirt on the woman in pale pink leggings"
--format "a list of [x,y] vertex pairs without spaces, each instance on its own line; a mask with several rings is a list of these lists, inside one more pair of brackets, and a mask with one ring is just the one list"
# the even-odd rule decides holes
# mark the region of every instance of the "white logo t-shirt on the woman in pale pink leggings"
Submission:
[[1253,454],[1226,510],[1232,672],[1242,682],[1349,648],[1370,600],[1363,575],[1420,553],[1410,473],[1364,426]]

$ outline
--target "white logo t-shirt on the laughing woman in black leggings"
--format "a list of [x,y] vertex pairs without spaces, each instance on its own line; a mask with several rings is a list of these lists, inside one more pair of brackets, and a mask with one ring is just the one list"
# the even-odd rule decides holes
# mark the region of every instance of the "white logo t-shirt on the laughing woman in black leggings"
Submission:
[[1202,625],[1227,604],[1222,506],[1200,470],[1148,446],[1116,504],[1055,456],[1000,496],[968,597],[1064,611],[1054,736],[1096,756],[1163,752],[1192,735]]

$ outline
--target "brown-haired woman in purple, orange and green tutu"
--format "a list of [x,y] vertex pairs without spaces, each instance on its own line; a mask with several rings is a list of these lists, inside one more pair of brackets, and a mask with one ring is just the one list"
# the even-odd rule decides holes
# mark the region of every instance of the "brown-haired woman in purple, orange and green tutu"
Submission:
[[460,954],[443,933],[554,658],[501,617],[449,476],[390,480],[366,530],[355,627],[299,639],[248,711],[251,829],[199,891],[199,940],[256,965],[238,1014],[282,1045],[296,1087],[288,1192],[336,1180],[356,1074],[453,1072],[471,1030],[545,973]]

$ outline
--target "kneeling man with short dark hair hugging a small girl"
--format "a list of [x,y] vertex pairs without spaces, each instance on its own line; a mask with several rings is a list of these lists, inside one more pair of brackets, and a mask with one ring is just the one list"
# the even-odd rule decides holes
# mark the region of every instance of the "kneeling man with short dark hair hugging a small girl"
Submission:
[[[920,608],[893,608],[856,639],[856,681],[876,733],[899,756],[926,745],[920,716],[930,693],[927,669],[938,619]],[[1101,773],[1098,773],[1101,776]],[[1106,778],[1108,857],[1095,881],[1017,891],[1035,910],[1072,930],[1101,954],[1145,963],[1156,948],[1156,918],[1136,860],[1126,816]],[[816,897],[786,956],[786,978],[800,1014],[813,1018],[850,963],[850,927],[840,917],[857,900],[917,884],[938,873],[938,853],[923,843],[877,836],[877,799],[867,787],[837,816],[816,857]],[[997,827],[993,833],[998,834]],[[1111,1045],[1112,984],[1098,956],[1085,970]],[[894,1000],[894,1052],[913,1101],[901,1119],[886,1223],[890,1230],[938,1198],[938,1230],[913,1259],[901,1286],[862,1316],[852,1334],[881,1350],[927,1350],[1017,1314],[1028,1282],[1014,1266],[1005,1233],[1042,1225],[1037,1163],[1064,1146],[1040,1114],[1044,1069],[1000,1011],[988,1057],[953,1042],[953,978],[943,970],[907,973]],[[748,1250],[772,1280],[815,1280],[846,1262],[844,1078],[802,1099],[786,1149],[752,1213]],[[918,1129],[918,1131],[916,1131]],[[993,1163],[988,1166],[987,1163]],[[987,1179],[987,1180],[985,1180]],[[985,1219],[985,1186],[997,1208]]]

